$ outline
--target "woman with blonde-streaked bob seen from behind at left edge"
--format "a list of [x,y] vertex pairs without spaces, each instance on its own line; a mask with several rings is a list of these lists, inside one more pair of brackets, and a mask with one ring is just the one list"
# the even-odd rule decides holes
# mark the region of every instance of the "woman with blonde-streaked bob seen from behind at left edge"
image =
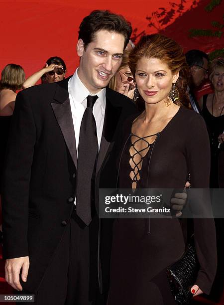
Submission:
[[[14,110],[16,91],[22,89],[25,81],[25,73],[21,66],[8,64],[1,71],[0,79],[0,194],[1,175],[5,156],[5,147],[8,139],[8,131],[11,116]],[[1,196],[0,196],[1,206]],[[0,220],[1,222],[1,220]],[[0,228],[1,230],[1,228]]]

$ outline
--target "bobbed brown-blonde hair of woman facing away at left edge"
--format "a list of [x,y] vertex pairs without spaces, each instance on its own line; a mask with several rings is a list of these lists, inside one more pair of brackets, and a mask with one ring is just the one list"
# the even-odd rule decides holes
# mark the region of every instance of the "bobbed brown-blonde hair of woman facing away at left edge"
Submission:
[[1,71],[0,89],[11,89],[14,92],[22,89],[25,72],[20,65],[8,64]]

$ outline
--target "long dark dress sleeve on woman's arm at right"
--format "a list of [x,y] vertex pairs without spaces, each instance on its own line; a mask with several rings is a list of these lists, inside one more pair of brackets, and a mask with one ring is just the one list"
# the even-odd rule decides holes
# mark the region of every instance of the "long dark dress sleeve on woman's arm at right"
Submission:
[[[193,195],[195,247],[200,263],[196,285],[209,294],[217,269],[216,229],[209,195],[210,143],[206,124],[200,115],[192,118],[188,127],[187,158]],[[207,217],[206,215],[211,215]],[[197,218],[197,214],[200,217]]]

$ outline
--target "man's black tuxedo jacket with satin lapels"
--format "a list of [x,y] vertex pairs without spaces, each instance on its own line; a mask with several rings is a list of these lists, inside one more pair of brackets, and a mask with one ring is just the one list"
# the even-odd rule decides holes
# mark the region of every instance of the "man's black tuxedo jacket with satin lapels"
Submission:
[[[115,185],[116,170],[112,162],[115,162],[119,148],[122,122],[134,112],[136,108],[130,99],[107,88],[97,163],[96,204],[100,184],[103,187]],[[109,160],[111,165],[105,167]],[[3,257],[29,256],[28,279],[23,284],[27,291],[38,289],[71,217],[76,168],[68,79],[19,92],[6,150],[2,190]],[[103,168],[104,174],[101,174]],[[111,246],[111,236],[103,227],[104,223],[103,226],[100,223],[98,274],[101,291],[103,282],[106,289],[108,286]]]

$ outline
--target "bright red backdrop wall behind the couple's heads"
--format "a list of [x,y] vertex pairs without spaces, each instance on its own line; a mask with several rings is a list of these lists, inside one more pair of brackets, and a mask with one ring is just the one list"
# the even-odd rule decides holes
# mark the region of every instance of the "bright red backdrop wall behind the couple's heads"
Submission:
[[[210,0],[197,0],[197,6],[186,11],[192,2],[187,0],[182,16],[174,16],[160,29],[181,43],[185,51],[224,47],[224,38],[189,38],[191,27],[212,28],[212,20],[222,22],[224,3],[207,13],[204,7]],[[155,30],[147,26],[146,16],[159,7],[169,8],[169,0],[0,0],[0,71],[6,64],[16,63],[28,77],[42,68],[47,58],[60,56],[70,75],[78,65],[76,42],[84,16],[94,9],[110,9],[131,21],[137,33],[152,33]]]

